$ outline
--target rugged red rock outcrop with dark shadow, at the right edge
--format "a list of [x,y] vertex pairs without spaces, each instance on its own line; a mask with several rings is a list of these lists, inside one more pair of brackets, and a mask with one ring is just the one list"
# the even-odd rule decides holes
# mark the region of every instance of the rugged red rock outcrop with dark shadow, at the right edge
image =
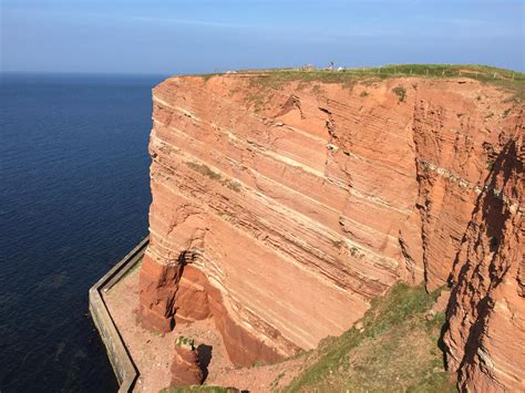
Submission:
[[525,391],[524,120],[496,147],[455,261],[445,342],[467,391]]

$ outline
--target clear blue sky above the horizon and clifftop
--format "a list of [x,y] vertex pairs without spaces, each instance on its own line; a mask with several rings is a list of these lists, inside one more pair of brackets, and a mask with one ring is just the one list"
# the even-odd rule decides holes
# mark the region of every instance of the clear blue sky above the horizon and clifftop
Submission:
[[511,0],[0,0],[1,70],[197,73],[305,63],[525,71]]

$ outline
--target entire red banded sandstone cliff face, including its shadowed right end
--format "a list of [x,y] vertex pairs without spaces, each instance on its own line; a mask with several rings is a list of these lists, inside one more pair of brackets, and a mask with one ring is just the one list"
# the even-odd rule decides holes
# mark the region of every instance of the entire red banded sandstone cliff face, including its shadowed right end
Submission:
[[214,318],[234,362],[274,361],[342,333],[400,279],[433,289],[454,272],[451,366],[465,384],[486,353],[506,368],[491,352],[511,343],[488,330],[523,334],[525,275],[523,114],[507,99],[466,79],[166,80],[153,92],[143,324]]

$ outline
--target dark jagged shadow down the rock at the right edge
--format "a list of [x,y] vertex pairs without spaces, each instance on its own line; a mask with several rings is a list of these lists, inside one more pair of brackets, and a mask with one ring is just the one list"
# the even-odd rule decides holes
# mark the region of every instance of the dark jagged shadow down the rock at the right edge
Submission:
[[[467,327],[463,354],[456,360],[460,382],[465,378],[465,368],[474,362],[477,354],[487,318],[494,308],[492,292],[503,281],[508,270],[507,261],[501,256],[501,248],[507,241],[505,225],[512,217],[498,189],[512,182],[516,173],[523,173],[523,162],[518,159],[515,141],[511,139],[497,154],[484,182],[486,188],[477,197],[471,223],[463,236],[449,278],[452,293],[447,306],[447,320],[462,314],[461,298],[469,291],[472,292],[470,297],[473,312],[470,317],[474,320]],[[488,278],[486,282],[483,282],[484,277]],[[473,290],[472,280],[480,278],[478,288]],[[446,335],[451,338],[451,332],[446,332],[447,329],[449,327],[444,330],[445,339]],[[446,340],[443,344],[445,353],[450,354],[451,349],[447,348]]]

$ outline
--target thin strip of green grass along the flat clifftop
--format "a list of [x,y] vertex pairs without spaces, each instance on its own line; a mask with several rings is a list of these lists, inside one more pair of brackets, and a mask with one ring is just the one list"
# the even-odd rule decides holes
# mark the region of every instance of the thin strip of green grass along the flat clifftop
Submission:
[[[271,69],[240,71],[253,73],[251,86],[280,89],[290,82],[321,82],[340,83],[351,87],[356,82],[364,84],[397,76],[422,76],[429,79],[469,77],[484,83],[495,84],[502,89],[511,90],[519,101],[525,100],[525,74],[512,70],[498,69],[488,65],[467,64],[391,64],[373,68],[354,68],[343,71],[299,69]],[[205,81],[217,74],[200,75]],[[255,93],[254,93],[255,94]],[[260,94],[257,96],[260,101]]]

